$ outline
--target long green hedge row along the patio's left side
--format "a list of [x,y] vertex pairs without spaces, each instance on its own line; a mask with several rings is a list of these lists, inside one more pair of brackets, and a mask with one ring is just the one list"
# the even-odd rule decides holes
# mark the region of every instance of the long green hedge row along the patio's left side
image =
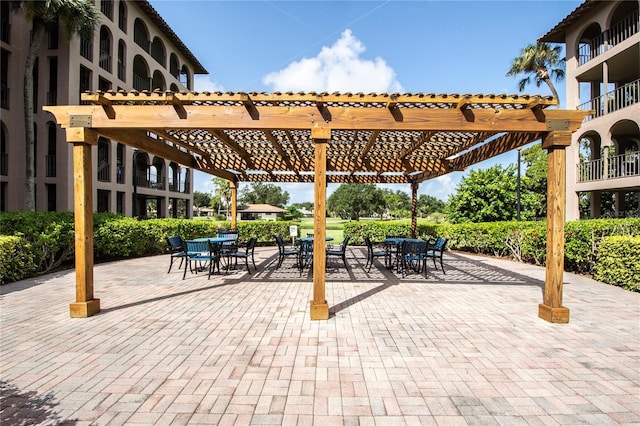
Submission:
[[[166,238],[185,239],[216,235],[228,222],[188,219],[139,221],[112,213],[94,214],[94,256],[97,261],[164,253]],[[289,235],[289,222],[239,222],[239,242],[255,236],[270,243],[275,234]],[[0,213],[0,282],[16,281],[43,274],[73,261],[74,217],[71,212]],[[5,261],[6,259],[6,261]]]

